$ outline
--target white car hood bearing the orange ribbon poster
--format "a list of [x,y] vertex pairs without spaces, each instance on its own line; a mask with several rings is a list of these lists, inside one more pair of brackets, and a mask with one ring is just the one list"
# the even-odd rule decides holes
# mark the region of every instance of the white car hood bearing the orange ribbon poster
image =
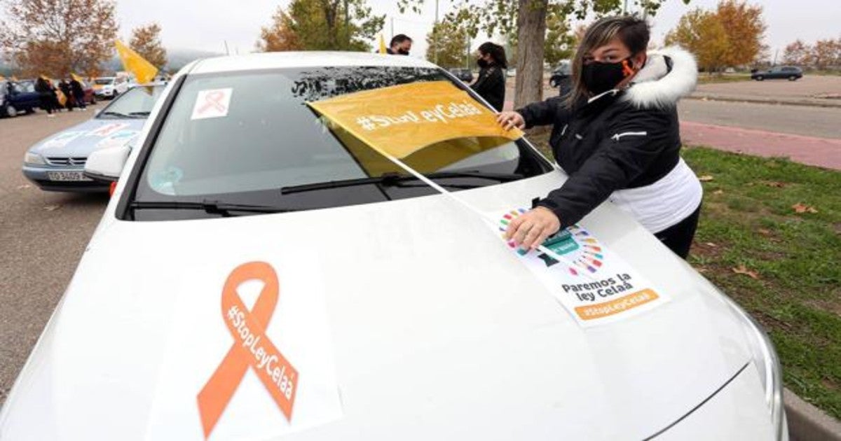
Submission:
[[[458,194],[505,210],[559,179]],[[0,435],[203,438],[198,392],[234,342],[223,285],[249,261],[278,270],[269,331],[295,320],[294,292],[316,299],[299,319],[320,329],[311,349],[325,349],[319,375],[333,375],[326,393],[341,412],[289,428],[249,370],[218,439],[641,439],[750,360],[743,324],[715,288],[610,204],[583,224],[671,301],[592,328],[440,195],[173,222],[116,221],[113,206],[8,398]],[[303,400],[296,417],[321,406]]]

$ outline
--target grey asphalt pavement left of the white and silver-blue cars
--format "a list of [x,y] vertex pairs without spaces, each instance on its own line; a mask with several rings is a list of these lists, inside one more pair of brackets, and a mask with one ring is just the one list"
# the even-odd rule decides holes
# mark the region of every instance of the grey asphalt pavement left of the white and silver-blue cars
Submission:
[[93,112],[0,119],[0,402],[61,298],[107,195],[42,192],[20,172],[29,145]]

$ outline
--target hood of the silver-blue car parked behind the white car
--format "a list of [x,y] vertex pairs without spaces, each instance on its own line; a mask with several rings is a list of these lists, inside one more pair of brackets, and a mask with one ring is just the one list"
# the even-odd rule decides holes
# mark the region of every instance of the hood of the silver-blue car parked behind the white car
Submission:
[[132,143],[145,118],[92,118],[42,139],[29,151],[45,157],[87,157],[93,150]]

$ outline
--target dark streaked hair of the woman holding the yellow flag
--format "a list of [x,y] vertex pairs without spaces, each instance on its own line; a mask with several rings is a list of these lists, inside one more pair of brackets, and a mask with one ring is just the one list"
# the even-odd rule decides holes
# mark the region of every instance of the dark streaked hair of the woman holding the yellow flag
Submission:
[[642,18],[630,15],[601,18],[584,32],[584,38],[579,42],[573,58],[573,92],[569,94],[567,105],[572,107],[589,95],[587,87],[581,81],[581,70],[584,67],[584,57],[593,50],[608,44],[611,39],[619,37],[622,44],[631,50],[631,55],[637,55],[648,48],[651,31],[648,23]]

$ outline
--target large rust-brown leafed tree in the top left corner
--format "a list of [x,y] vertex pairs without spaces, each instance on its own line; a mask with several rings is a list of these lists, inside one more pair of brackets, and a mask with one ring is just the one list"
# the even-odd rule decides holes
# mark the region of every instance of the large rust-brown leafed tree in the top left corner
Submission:
[[111,0],[2,0],[0,49],[24,75],[88,73],[114,54]]

